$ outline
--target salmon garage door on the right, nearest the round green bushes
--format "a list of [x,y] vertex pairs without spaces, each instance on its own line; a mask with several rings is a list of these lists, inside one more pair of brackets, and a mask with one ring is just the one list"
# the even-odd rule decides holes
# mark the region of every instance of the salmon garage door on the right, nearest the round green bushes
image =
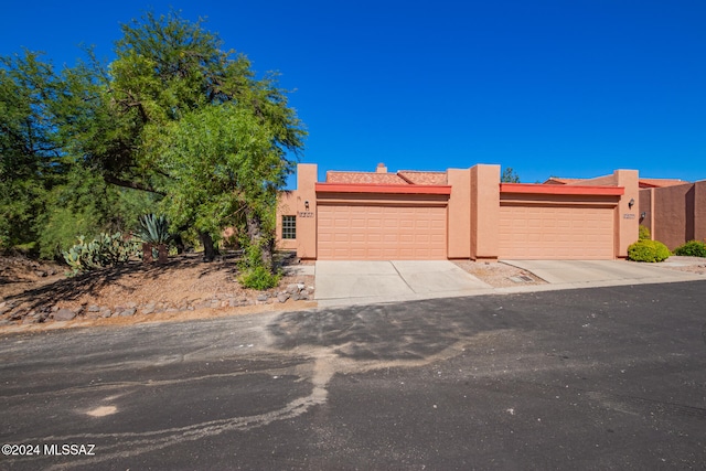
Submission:
[[613,210],[582,206],[501,206],[500,257],[612,259]]

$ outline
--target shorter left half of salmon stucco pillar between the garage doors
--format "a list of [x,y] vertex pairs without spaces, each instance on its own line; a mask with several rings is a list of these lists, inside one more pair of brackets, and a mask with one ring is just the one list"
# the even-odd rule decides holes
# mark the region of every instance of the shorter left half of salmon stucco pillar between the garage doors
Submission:
[[471,172],[449,169],[448,183],[453,189],[448,206],[448,258],[471,258]]

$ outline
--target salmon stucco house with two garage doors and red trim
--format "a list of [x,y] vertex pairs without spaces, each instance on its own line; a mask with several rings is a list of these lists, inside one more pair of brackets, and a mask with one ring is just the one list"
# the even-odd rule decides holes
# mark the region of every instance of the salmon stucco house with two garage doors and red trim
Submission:
[[614,259],[638,238],[635,170],[554,185],[485,164],[317,175],[299,164],[278,205],[278,246],[302,259]]

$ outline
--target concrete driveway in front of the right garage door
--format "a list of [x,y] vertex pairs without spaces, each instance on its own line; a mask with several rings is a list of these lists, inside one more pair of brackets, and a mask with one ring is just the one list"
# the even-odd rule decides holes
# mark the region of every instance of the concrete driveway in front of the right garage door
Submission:
[[694,274],[666,268],[670,260],[662,264],[639,264],[625,260],[503,260],[503,263],[532,271],[550,285],[573,285],[577,288],[703,279]]

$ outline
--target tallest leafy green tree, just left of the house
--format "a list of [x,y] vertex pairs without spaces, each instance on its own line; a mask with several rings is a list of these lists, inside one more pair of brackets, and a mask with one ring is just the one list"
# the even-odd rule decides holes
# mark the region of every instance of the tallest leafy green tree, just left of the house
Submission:
[[275,76],[255,78],[201,21],[147,13],[122,33],[109,67],[93,61],[72,75],[84,97],[66,135],[83,162],[106,182],[165,195],[174,224],[199,231],[206,259],[212,235],[240,215],[270,269],[265,222],[306,136],[286,92]]

